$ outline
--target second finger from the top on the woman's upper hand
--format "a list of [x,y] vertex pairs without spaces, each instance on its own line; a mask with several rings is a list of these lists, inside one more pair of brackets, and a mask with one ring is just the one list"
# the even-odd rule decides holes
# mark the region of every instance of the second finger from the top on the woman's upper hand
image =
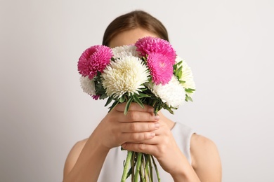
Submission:
[[122,123],[121,132],[150,132],[159,129],[159,123]]

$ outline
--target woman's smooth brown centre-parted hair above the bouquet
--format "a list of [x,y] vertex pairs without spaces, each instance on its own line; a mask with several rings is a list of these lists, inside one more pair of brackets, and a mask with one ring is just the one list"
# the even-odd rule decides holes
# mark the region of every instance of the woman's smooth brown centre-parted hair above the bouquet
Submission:
[[162,22],[143,10],[133,10],[110,22],[110,25],[105,29],[103,45],[109,45],[110,40],[122,31],[135,28],[146,29],[159,36],[159,38],[169,41],[167,29],[162,25]]

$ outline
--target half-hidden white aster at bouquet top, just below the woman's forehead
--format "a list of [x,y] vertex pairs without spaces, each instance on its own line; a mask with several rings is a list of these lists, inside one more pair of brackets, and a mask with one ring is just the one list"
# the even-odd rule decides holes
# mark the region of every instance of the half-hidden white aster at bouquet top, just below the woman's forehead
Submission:
[[116,48],[112,48],[113,58],[117,59],[126,56],[138,57],[138,52],[136,51],[135,45],[123,45]]

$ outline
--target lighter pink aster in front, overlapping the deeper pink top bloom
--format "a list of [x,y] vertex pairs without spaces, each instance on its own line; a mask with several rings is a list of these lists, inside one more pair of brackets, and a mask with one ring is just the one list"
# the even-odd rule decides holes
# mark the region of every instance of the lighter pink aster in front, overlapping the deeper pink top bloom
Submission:
[[156,85],[169,83],[173,75],[173,64],[165,55],[150,53],[147,57],[148,68],[152,76],[152,82]]

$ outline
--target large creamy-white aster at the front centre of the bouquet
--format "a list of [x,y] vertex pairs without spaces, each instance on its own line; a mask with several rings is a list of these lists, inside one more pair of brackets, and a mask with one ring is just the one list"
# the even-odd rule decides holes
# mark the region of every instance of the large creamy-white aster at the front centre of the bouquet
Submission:
[[140,58],[125,56],[110,62],[101,76],[107,96],[120,98],[125,93],[138,94],[148,82],[149,71]]

